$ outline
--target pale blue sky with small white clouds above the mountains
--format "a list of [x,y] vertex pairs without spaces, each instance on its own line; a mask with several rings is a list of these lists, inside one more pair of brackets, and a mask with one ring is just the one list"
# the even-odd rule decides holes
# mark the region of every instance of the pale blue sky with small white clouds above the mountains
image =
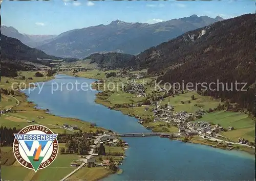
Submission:
[[255,13],[255,1],[3,1],[2,24],[31,35],[126,22],[155,23],[192,14],[231,18]]

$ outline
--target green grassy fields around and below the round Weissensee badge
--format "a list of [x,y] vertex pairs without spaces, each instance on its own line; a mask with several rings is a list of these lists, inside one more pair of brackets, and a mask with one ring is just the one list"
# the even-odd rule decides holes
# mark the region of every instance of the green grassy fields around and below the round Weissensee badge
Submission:
[[[61,147],[65,147],[64,143],[59,144],[59,150]],[[109,146],[105,146],[106,152],[109,150]],[[124,150],[118,146],[111,146],[111,152],[122,152]],[[11,151],[12,147],[1,147],[1,156],[4,152]],[[14,157],[13,154],[10,156]],[[110,157],[110,156],[109,156]],[[114,161],[120,161],[120,156],[111,156]],[[106,159],[108,156],[102,156],[102,159]],[[2,179],[4,180],[60,180],[68,173],[72,172],[75,168],[70,167],[70,163],[81,159],[76,154],[58,154],[54,162],[47,168],[38,170],[36,173],[34,170],[29,170],[21,166],[17,161],[13,165],[1,165]],[[15,173],[15,174],[13,174]],[[112,170],[105,167],[82,167],[78,172],[72,175],[68,180],[87,179],[97,180],[113,173]]]

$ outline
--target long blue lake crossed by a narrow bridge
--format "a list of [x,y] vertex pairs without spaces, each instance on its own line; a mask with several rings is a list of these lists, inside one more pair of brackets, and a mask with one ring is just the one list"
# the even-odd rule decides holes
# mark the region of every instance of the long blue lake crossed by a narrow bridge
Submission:
[[[56,116],[78,118],[119,133],[150,132],[137,119],[96,104],[97,91],[67,90],[61,83],[95,80],[57,75],[56,79],[24,92],[38,108],[49,109]],[[52,93],[52,84],[59,89]],[[53,88],[56,88],[54,84]],[[79,87],[79,86],[78,86]],[[71,89],[71,85],[68,86]],[[122,174],[103,180],[254,180],[254,156],[205,145],[189,144],[160,137],[123,138],[129,143]]]

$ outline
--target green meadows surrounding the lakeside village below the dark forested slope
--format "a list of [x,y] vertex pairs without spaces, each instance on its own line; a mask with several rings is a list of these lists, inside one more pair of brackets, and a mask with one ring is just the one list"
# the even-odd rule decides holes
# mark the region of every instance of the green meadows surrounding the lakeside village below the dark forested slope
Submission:
[[[97,74],[98,79],[102,79],[103,74],[105,75],[106,72],[104,73],[104,72],[92,70],[92,71],[87,71],[86,74],[79,72],[79,73],[76,73],[76,75],[83,76],[83,77],[94,77],[95,79],[95,75]],[[98,104],[102,104],[110,109],[115,109],[129,116],[134,116],[138,118],[139,122],[142,125],[144,125],[145,127],[150,127],[150,129],[153,132],[158,132],[158,133],[159,132],[162,132],[162,133],[179,132],[180,126],[177,126],[177,125],[173,126],[173,121],[168,120],[168,119],[172,120],[172,118],[167,118],[165,121],[161,121],[161,120],[156,121],[156,119],[159,119],[159,118],[156,117],[156,115],[154,116],[153,111],[155,111],[156,108],[165,107],[168,104],[168,105],[172,105],[174,113],[175,112],[176,113],[177,112],[195,113],[200,110],[206,110],[207,112],[209,112],[207,114],[200,116],[201,118],[191,121],[191,123],[198,122],[198,121],[199,122],[206,121],[212,125],[215,125],[215,124],[218,124],[219,126],[221,125],[225,129],[225,131],[222,131],[218,136],[220,140],[237,143],[239,141],[239,138],[246,138],[250,142],[254,142],[254,124],[255,124],[255,120],[253,120],[254,118],[249,117],[247,114],[243,112],[232,112],[231,110],[224,108],[224,105],[226,103],[222,102],[220,99],[215,99],[209,96],[202,96],[195,91],[194,92],[185,91],[184,93],[177,92],[173,96],[166,95],[166,92],[152,91],[152,89],[154,89],[154,85],[148,84],[148,83],[150,83],[152,80],[155,80],[156,77],[145,78],[144,81],[147,82],[146,85],[144,86],[146,96],[138,97],[139,95],[138,93],[135,93],[135,94],[126,93],[122,90],[120,86],[118,87],[118,85],[125,84],[127,79],[122,78],[119,75],[118,70],[116,70],[115,72],[117,73],[117,76],[110,77],[109,79],[103,79],[104,83],[96,83],[93,86],[93,88],[96,88],[102,91],[97,94],[97,98],[95,99],[95,102],[97,102]],[[139,72],[136,71],[134,73],[137,74]],[[138,84],[140,84],[142,81],[143,79],[136,80]],[[115,89],[114,89],[114,86],[112,85],[111,90],[105,90],[106,87],[109,87],[108,85],[110,84],[116,85]],[[192,96],[194,97],[194,99],[191,99]],[[158,103],[156,106],[154,106],[154,101],[152,101],[152,97],[153,99],[159,99],[160,97],[160,101],[158,101],[160,102],[160,104]],[[148,100],[151,99],[150,101],[151,103],[146,103],[146,105],[144,105],[145,104],[144,102],[147,99]],[[217,108],[218,106],[220,107],[221,105],[223,105],[224,110],[218,111]],[[228,131],[228,127],[235,127],[235,128],[234,130]],[[186,138],[186,136],[184,136],[184,138]],[[195,139],[197,140],[197,142],[204,140],[200,137],[195,137],[193,140]],[[193,142],[193,140],[191,142]],[[209,144],[209,141],[204,142],[204,144]],[[225,146],[222,145],[221,147],[224,148]],[[249,149],[247,148],[247,146],[241,146],[241,145],[237,145],[237,147],[236,145],[233,145],[233,148],[239,149],[239,150],[245,150],[254,154],[254,148]],[[229,149],[227,145],[226,145],[226,149]]]

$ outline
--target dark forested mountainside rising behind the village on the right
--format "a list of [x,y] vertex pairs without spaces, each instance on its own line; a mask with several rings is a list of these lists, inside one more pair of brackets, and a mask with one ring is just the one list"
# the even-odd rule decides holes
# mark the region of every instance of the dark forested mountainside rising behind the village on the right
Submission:
[[[216,22],[143,51],[133,62],[158,81],[182,83],[247,83],[247,91],[205,91],[237,102],[255,113],[255,14]],[[241,89],[243,85],[239,85]],[[226,89],[226,88],[225,88]],[[233,87],[233,89],[235,89]]]

